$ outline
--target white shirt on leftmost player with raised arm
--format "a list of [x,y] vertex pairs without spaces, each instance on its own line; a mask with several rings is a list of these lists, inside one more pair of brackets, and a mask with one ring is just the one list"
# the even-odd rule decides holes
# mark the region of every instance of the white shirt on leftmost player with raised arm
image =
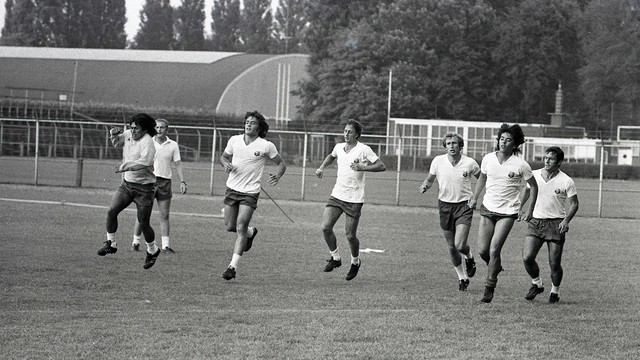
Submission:
[[152,184],[156,182],[153,174],[153,158],[156,148],[153,146],[153,138],[149,134],[144,134],[140,139],[133,140],[131,130],[125,130],[118,135],[122,141],[122,159],[128,166],[145,165],[142,170],[126,171],[122,173],[125,181],[136,184]]

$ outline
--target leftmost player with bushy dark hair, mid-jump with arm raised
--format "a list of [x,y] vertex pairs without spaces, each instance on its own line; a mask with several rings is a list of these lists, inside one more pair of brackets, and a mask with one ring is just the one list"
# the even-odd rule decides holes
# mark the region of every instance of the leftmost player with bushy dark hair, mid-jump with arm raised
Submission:
[[107,241],[104,242],[104,247],[98,250],[98,255],[105,256],[118,251],[115,238],[118,214],[133,202],[136,204],[137,220],[147,243],[147,256],[143,267],[149,269],[160,255],[155,233],[149,223],[156,183],[156,176],[153,174],[153,159],[156,154],[153,136],[157,134],[156,122],[151,116],[139,113],[133,115],[129,126],[129,129],[124,131],[117,127],[109,130],[113,146],[123,149],[123,162],[116,170],[123,174],[122,183],[113,194],[107,212]]

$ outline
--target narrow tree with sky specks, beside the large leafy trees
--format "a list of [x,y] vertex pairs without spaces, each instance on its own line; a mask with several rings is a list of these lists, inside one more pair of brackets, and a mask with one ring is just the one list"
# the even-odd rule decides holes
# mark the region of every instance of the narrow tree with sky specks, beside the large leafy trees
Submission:
[[307,18],[305,0],[280,0],[275,16],[276,53],[306,53],[304,32]]

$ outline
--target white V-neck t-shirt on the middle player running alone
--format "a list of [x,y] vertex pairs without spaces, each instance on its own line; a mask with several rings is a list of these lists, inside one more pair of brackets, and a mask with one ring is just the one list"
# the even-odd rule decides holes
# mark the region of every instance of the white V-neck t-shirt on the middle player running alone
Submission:
[[336,144],[331,156],[337,158],[338,178],[331,196],[350,203],[364,203],[364,171],[351,169],[354,161],[374,163],[379,158],[368,145],[358,142],[348,153],[344,151],[347,143]]

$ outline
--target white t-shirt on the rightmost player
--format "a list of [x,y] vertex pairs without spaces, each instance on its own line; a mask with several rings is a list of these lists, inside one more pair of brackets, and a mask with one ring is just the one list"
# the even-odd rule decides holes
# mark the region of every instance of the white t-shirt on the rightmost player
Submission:
[[542,177],[542,169],[534,170],[533,176],[538,182],[538,199],[533,209],[533,217],[564,219],[567,216],[565,209],[567,199],[578,194],[573,179],[562,171],[558,171],[558,174],[547,182]]

